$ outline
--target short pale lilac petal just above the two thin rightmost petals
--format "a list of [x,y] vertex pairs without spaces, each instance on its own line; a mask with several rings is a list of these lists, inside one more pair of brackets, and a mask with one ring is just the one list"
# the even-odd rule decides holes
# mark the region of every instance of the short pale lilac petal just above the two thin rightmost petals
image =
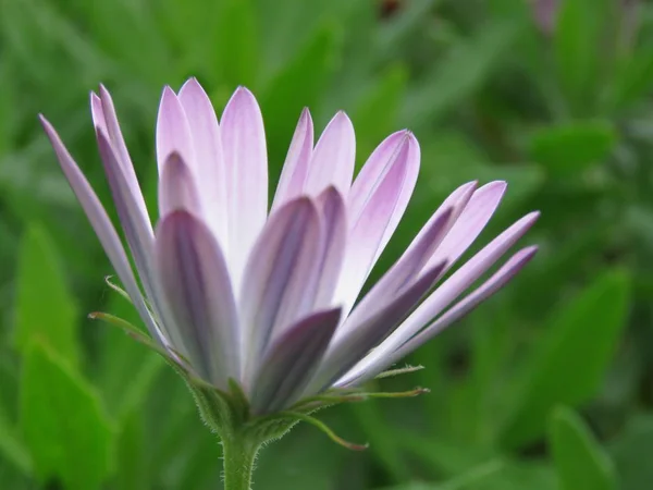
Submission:
[[469,203],[456,220],[428,266],[447,260],[447,270],[481,234],[498,207],[506,191],[505,182],[490,182],[473,193]]

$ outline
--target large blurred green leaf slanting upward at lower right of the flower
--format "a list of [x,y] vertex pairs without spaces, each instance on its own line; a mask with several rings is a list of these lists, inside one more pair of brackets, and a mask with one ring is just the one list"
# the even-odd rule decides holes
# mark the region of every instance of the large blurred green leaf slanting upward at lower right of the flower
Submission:
[[555,405],[576,406],[594,394],[626,324],[629,282],[625,271],[608,270],[554,315],[530,356],[533,363],[501,436],[504,446],[540,437]]

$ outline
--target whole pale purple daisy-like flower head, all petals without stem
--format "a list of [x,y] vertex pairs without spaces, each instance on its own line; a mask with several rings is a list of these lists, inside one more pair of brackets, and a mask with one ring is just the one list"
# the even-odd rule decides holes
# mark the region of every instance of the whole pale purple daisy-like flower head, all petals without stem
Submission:
[[538,218],[525,216],[444,279],[506,189],[504,182],[470,182],[357,303],[416,185],[420,149],[410,132],[384,139],[353,182],[347,115],[335,114],[313,145],[304,110],[268,211],[266,136],[254,95],[238,88],[219,122],[195,78],[178,94],[165,87],[152,229],[111,96],[100,87],[90,106],[143,291],[98,197],[41,121],[126,294],[164,355],[219,390],[235,380],[252,414],[370,380],[503,287],[537,250],[520,249],[458,299]]

